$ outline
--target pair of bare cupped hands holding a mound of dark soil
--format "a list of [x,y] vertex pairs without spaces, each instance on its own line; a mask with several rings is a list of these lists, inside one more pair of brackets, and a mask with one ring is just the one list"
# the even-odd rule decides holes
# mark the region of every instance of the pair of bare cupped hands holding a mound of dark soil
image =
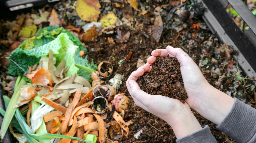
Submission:
[[[231,110],[234,99],[212,87],[193,59],[182,49],[171,46],[154,50],[151,55],[147,63],[133,71],[126,82],[128,91],[138,106],[165,120],[178,139],[202,129],[190,108],[217,125],[221,123]],[[177,57],[180,62],[184,88],[188,95],[185,103],[161,95],[150,95],[136,83],[139,76],[152,70],[156,57],[167,55]]]

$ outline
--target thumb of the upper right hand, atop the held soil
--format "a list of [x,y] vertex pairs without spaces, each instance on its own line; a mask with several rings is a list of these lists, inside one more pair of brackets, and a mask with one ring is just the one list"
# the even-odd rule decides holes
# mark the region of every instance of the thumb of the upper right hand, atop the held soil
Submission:
[[180,48],[173,48],[172,46],[167,46],[166,50],[172,56],[177,57],[178,61],[181,63],[181,66],[194,63],[193,59]]

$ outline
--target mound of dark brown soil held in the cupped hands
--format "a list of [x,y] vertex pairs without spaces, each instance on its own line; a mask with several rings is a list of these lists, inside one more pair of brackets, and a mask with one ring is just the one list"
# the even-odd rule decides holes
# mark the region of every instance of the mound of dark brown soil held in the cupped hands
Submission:
[[151,95],[175,98],[185,103],[188,98],[181,76],[181,66],[176,57],[157,57],[149,73],[139,77],[141,90]]

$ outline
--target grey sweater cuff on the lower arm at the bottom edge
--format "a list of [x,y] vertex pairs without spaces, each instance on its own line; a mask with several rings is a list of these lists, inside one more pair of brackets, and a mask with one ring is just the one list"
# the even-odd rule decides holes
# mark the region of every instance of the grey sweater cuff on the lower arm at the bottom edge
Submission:
[[176,140],[177,143],[217,143],[208,125],[203,129]]

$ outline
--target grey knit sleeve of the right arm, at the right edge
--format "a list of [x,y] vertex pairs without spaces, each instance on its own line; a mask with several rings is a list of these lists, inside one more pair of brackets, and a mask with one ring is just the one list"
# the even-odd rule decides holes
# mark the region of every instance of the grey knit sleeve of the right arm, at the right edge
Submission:
[[224,132],[236,142],[256,142],[256,109],[235,98],[228,115],[216,126],[216,129]]

